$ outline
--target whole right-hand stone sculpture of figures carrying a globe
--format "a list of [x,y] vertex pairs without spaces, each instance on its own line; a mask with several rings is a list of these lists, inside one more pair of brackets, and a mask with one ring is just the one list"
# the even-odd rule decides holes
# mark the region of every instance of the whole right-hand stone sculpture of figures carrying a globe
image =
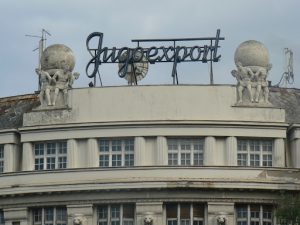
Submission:
[[259,41],[241,43],[234,54],[238,105],[269,105],[267,76],[272,68],[268,49]]

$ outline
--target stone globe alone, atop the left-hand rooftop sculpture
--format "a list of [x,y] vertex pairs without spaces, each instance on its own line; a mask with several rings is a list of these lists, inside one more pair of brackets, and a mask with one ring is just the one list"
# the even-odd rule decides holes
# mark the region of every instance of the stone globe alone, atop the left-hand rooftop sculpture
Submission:
[[73,51],[63,44],[48,46],[41,56],[41,68],[45,71],[64,69],[68,66],[69,71],[73,71],[75,66],[75,56]]

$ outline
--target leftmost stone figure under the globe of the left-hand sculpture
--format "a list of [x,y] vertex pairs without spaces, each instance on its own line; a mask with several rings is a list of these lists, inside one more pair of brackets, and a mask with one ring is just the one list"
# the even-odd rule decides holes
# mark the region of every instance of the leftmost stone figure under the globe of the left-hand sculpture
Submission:
[[44,96],[46,97],[46,102],[50,106],[52,105],[50,99],[50,91],[51,91],[51,82],[55,82],[55,80],[49,75],[48,72],[43,71],[41,69],[35,69],[35,72],[40,77],[41,81],[41,91],[39,94],[39,99],[41,104],[44,102]]

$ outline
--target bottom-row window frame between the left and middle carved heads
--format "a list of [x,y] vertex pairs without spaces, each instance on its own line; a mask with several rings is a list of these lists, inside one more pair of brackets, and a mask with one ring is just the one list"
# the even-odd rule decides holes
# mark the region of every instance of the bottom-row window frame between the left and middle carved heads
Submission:
[[[124,217],[124,208],[130,206],[133,209],[133,218]],[[113,217],[113,207],[118,207],[118,217]],[[106,218],[100,218],[99,210],[106,209]],[[134,203],[112,203],[112,204],[99,204],[95,207],[97,225],[112,225],[113,222],[119,222],[119,225],[135,225],[136,223],[136,205]],[[101,224],[102,223],[102,224]]]

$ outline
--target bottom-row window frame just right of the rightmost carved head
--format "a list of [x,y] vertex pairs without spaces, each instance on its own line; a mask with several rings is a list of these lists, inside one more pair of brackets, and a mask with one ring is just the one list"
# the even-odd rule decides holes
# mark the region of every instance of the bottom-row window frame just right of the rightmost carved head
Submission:
[[[244,211],[243,213],[246,214],[246,217],[238,217],[239,212],[238,212],[238,208],[246,208],[246,211]],[[251,207],[259,207],[259,211],[251,211]],[[265,211],[264,207],[270,207],[271,208],[271,212],[269,211]],[[252,215],[254,215],[253,213],[258,213],[258,217],[254,217]],[[268,213],[268,215],[270,215],[269,213],[271,213],[271,218],[265,218],[265,213]],[[244,223],[246,223],[246,225],[250,225],[251,222],[256,222],[259,225],[262,224],[266,224],[268,223],[269,225],[274,224],[275,221],[275,217],[274,217],[275,213],[274,213],[274,206],[271,204],[236,204],[235,205],[235,220],[236,220],[236,225],[243,225]],[[239,224],[239,222],[241,222]],[[243,223],[244,222],[244,223]]]

